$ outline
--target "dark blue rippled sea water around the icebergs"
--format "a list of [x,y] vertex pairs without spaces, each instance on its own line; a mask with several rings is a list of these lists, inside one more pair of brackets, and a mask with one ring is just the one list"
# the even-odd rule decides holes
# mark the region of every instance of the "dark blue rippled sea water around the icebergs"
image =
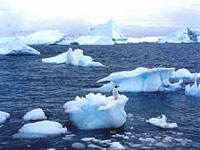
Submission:
[[[0,127],[0,150],[57,150],[73,149],[81,142],[92,149],[84,137],[120,142],[126,149],[200,149],[200,99],[187,97],[184,89],[176,92],[123,93],[129,97],[126,105],[127,122],[120,129],[84,131],[76,129],[65,114],[63,104],[88,91],[82,89],[101,86],[97,80],[115,71],[136,67],[175,67],[200,72],[200,44],[126,44],[113,46],[72,46],[106,67],[79,67],[65,64],[45,64],[41,59],[65,52],[69,46],[32,46],[40,56],[0,56],[0,110],[11,118]],[[23,115],[42,108],[48,120],[68,128],[66,135],[43,138],[13,138],[26,123]],[[178,128],[158,129],[145,120],[165,114],[168,122]],[[74,136],[70,136],[74,134]],[[121,136],[115,136],[120,134]],[[166,142],[166,137],[172,140]],[[142,139],[151,138],[154,142]],[[107,144],[91,142],[102,148]],[[95,148],[93,148],[95,149]],[[100,148],[99,148],[100,149]]]

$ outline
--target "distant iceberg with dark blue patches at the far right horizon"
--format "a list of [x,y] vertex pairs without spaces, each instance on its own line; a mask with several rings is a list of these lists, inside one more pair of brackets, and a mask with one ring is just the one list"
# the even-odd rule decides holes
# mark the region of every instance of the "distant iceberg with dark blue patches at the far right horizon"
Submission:
[[159,43],[193,43],[200,42],[200,32],[190,30],[188,27],[175,33],[167,34],[158,39]]

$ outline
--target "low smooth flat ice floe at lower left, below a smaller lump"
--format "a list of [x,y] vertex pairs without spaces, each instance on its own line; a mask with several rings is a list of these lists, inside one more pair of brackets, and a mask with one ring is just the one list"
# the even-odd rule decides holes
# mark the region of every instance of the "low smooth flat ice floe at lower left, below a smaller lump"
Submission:
[[15,138],[34,138],[43,137],[47,135],[64,134],[67,133],[67,128],[55,121],[38,121],[35,123],[25,124],[18,133],[14,135]]

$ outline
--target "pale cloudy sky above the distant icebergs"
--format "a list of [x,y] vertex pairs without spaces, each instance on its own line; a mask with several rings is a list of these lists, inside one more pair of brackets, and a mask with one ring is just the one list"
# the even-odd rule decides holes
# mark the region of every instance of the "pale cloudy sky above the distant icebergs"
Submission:
[[43,29],[81,35],[110,19],[136,37],[200,28],[200,0],[0,0],[0,35]]

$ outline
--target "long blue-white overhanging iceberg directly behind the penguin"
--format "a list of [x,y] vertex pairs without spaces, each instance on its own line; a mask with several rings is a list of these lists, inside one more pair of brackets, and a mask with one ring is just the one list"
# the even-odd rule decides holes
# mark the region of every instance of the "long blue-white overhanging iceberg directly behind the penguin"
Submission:
[[122,71],[111,73],[100,82],[110,82],[100,88],[90,89],[101,92],[110,92],[115,85],[124,92],[156,92],[174,91],[181,87],[182,80],[178,83],[170,83],[169,78],[174,72],[174,68],[143,68],[138,67],[132,71]]

